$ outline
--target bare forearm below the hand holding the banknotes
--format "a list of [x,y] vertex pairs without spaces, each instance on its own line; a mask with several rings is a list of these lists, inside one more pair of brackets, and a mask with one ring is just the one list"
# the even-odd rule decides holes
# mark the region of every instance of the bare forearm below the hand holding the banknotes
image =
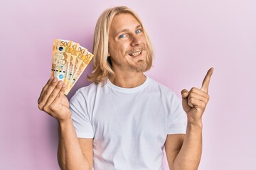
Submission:
[[71,118],[59,122],[58,164],[63,170],[90,169],[89,162],[82,153]]

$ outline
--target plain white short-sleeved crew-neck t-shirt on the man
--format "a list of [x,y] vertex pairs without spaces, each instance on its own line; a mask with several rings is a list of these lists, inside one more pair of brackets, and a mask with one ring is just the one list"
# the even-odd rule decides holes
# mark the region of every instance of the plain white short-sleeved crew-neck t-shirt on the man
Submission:
[[186,113],[173,91],[146,77],[127,89],[109,80],[90,84],[70,100],[78,137],[93,138],[93,168],[163,169],[168,134],[186,132]]

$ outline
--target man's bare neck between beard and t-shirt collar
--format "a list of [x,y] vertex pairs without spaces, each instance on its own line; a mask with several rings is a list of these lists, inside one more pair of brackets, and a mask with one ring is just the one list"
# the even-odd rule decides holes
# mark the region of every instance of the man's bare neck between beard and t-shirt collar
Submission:
[[127,74],[115,74],[115,77],[110,77],[112,84],[123,88],[134,88],[142,85],[146,81],[143,72],[130,72]]

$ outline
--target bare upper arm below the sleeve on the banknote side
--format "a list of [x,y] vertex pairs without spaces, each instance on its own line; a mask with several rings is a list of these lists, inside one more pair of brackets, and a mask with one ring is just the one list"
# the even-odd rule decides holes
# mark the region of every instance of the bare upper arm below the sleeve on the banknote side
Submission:
[[92,138],[78,138],[82,153],[87,158],[87,161],[90,164],[90,169],[92,169]]

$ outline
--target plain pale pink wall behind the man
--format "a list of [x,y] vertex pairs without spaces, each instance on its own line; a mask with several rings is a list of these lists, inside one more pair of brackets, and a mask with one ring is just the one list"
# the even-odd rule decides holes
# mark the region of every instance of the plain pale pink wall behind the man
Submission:
[[[256,1],[1,1],[0,169],[58,169],[57,122],[38,110],[54,38],[92,50],[105,8],[129,6],[154,44],[146,74],[180,96],[201,87],[210,67],[199,169],[256,169]],[[86,69],[74,89],[89,84]],[[168,169],[166,159],[164,167]]]

